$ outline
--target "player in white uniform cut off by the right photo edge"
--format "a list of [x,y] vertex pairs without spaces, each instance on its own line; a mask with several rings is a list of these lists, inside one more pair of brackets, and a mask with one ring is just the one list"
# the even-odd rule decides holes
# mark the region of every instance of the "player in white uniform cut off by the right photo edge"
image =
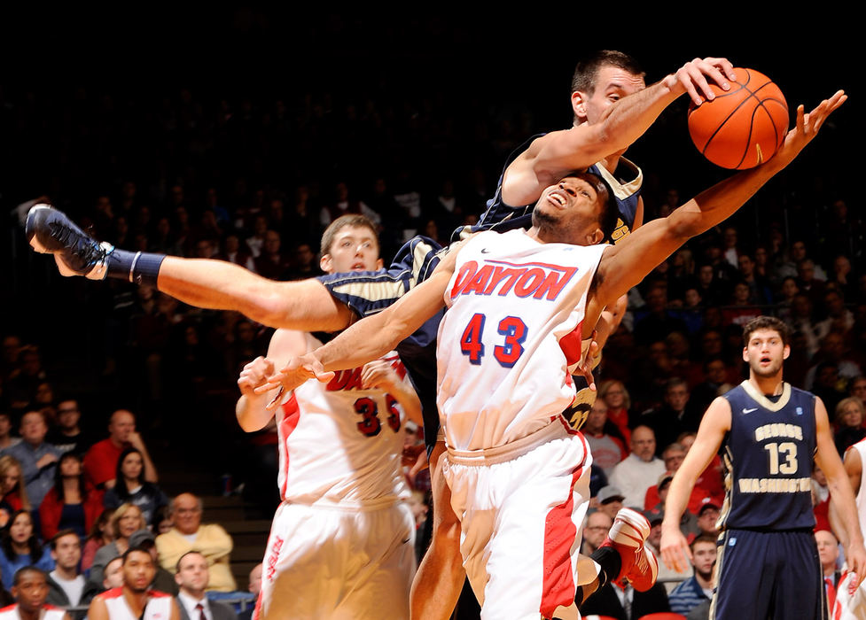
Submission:
[[[863,463],[866,463],[866,439],[858,441],[845,452],[845,472],[851,481],[860,517],[860,531],[866,532],[866,476],[863,476]],[[830,519],[834,531],[839,530],[839,515],[831,504]],[[833,620],[866,620],[866,585],[857,585],[859,577],[848,570],[846,565],[836,586],[836,603],[830,610]],[[866,582],[864,582],[866,583]]]

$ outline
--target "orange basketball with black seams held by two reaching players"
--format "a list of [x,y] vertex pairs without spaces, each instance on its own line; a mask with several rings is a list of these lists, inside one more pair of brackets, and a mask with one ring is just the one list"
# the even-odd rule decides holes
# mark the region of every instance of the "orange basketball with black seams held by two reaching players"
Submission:
[[711,82],[713,101],[689,108],[689,133],[716,166],[752,168],[776,154],[788,130],[788,105],[779,87],[754,69],[736,68],[730,90]]

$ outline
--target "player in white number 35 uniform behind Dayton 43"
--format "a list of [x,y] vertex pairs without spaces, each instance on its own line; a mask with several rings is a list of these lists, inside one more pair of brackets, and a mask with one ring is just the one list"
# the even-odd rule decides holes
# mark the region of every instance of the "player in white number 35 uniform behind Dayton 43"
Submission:
[[[376,233],[362,216],[334,221],[323,237],[324,271],[372,271]],[[316,349],[311,334],[278,329],[267,358],[238,379],[238,422],[267,424],[269,397],[254,393],[274,363]],[[328,384],[280,396],[279,489],[262,567],[258,617],[408,618],[415,523],[405,500],[402,422],[420,402],[394,352],[344,370]],[[405,413],[404,413],[405,412]]]

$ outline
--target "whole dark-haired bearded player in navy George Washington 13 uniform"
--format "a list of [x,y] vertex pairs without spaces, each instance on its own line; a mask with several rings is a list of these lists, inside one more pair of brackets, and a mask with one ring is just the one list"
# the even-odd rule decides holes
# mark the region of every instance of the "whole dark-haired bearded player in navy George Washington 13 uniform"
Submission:
[[667,493],[661,552],[668,566],[683,567],[687,546],[680,516],[698,474],[724,446],[728,491],[719,518],[710,617],[823,617],[823,572],[812,534],[815,464],[827,477],[831,503],[841,515],[848,561],[862,576],[866,550],[854,496],[823,402],[782,380],[791,352],[787,326],[775,317],[757,317],[745,325],[743,341],[749,379],[706,410],[698,438]]

